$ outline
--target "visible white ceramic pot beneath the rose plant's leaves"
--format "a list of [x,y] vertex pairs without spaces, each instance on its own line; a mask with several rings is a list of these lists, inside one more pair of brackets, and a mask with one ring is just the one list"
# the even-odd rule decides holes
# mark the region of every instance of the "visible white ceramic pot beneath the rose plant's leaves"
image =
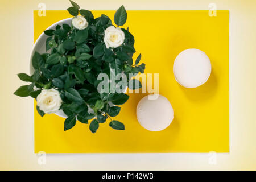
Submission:
[[[71,22],[72,22],[72,18],[67,18],[67,19],[63,19],[63,20],[60,20],[59,22],[56,22],[54,24],[52,24],[51,26],[49,26],[46,30],[48,29],[53,29],[55,30],[55,27],[59,24],[60,26],[62,26],[62,24],[69,24],[71,26]],[[36,40],[33,48],[32,48],[32,52],[31,52],[31,55],[30,55],[30,75],[32,75],[34,72],[35,72],[35,69],[33,68],[32,66],[32,56],[34,55],[34,53],[37,51],[39,52],[40,54],[42,53],[46,53],[46,39],[48,38],[49,36],[47,36],[46,34],[44,34],[44,32],[42,32],[42,34],[39,36],[39,38]],[[126,89],[124,90],[123,93],[126,93],[126,90],[127,90],[127,86],[126,86]],[[88,109],[88,112],[89,113],[93,113],[93,110],[92,109]],[[56,115],[59,115],[60,117],[63,117],[63,118],[67,118],[67,115],[65,115],[65,113],[63,112],[63,110],[58,110],[56,111],[54,114]]]

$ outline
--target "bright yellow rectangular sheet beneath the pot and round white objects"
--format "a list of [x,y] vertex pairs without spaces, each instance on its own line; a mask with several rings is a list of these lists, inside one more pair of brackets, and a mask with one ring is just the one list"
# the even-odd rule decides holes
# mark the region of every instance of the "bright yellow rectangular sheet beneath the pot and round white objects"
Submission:
[[[34,12],[34,40],[51,24],[69,17],[67,11]],[[113,18],[114,11],[93,11]],[[109,120],[95,134],[77,122],[64,131],[64,119],[54,114],[43,118],[35,110],[35,152],[229,152],[229,11],[128,11],[125,28],[135,37],[136,56],[142,53],[146,73],[159,73],[159,93],[174,108],[174,121],[159,132],[143,129],[136,106],[145,94],[130,94],[115,117],[125,131],[113,130]],[[152,23],[155,22],[155,23]],[[184,49],[198,48],[212,62],[208,82],[195,89],[175,81],[172,65]]]

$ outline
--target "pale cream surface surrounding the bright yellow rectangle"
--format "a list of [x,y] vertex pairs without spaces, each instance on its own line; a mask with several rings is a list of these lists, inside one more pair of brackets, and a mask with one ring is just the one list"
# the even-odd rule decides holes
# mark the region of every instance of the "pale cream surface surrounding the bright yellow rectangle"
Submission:
[[[65,10],[68,1],[0,1],[1,67],[0,84],[0,169],[256,169],[255,145],[255,46],[256,2],[253,0],[214,1],[218,10],[230,15],[230,152],[217,154],[216,164],[209,154],[47,154],[39,165],[34,154],[34,102],[13,95],[24,84],[16,73],[29,72],[28,57],[33,46],[33,12],[40,2],[47,10]],[[109,0],[82,1],[89,10],[208,10],[211,0]]]

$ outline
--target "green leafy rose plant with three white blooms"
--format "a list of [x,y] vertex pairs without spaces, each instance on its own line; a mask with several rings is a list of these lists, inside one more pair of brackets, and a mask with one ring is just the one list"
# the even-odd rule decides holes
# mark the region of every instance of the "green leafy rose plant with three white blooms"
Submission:
[[[68,116],[64,130],[75,126],[76,121],[90,122],[89,129],[95,133],[99,123],[110,119],[109,126],[124,130],[123,123],[113,120],[129,96],[125,93],[99,93],[97,80],[100,73],[109,77],[122,73],[128,77],[143,73],[145,64],[139,64],[141,54],[133,63],[134,36],[129,29],[120,28],[127,19],[125,7],[121,6],[114,15],[112,24],[108,16],[102,14],[94,18],[89,10],[80,9],[70,1],[68,11],[73,15],[71,26],[57,25],[55,30],[45,30],[46,53],[35,52],[32,66],[35,72],[29,76],[19,73],[22,81],[31,82],[14,92],[20,97],[31,96],[36,99],[36,109],[44,114],[62,109]],[[141,88],[138,80],[127,80],[129,88]],[[115,81],[117,84],[117,81]],[[131,85],[131,86],[130,86]],[[124,89],[124,88],[122,88]],[[88,110],[92,110],[89,112]]]

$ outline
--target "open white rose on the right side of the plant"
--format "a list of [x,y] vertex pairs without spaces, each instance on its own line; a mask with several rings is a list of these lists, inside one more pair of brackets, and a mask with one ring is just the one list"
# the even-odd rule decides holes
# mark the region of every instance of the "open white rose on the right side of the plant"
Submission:
[[119,27],[115,28],[114,26],[110,26],[106,28],[104,34],[106,48],[117,48],[125,41],[125,33]]

